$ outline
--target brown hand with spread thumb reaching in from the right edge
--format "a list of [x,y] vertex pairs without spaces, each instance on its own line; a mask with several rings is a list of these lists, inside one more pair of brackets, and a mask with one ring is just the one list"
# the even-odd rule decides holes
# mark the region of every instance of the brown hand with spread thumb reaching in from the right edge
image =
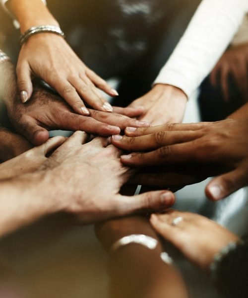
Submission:
[[[247,131],[248,119],[168,124],[132,129],[132,132],[127,128],[126,134],[129,137],[113,137],[112,144],[128,151],[150,150],[121,156],[122,162],[127,166],[196,163],[208,165],[211,169],[211,165],[215,165],[209,176],[219,174],[220,169],[224,174],[214,178],[205,191],[210,199],[220,200],[248,185]],[[216,165],[219,165],[217,172]]]

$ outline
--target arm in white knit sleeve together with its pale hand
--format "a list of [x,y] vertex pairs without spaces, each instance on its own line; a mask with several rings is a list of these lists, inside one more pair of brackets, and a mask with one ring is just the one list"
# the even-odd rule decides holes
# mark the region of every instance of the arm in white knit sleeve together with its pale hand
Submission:
[[247,11],[247,0],[201,2],[151,91],[130,105],[144,106],[141,120],[153,125],[182,122],[187,97],[213,69]]

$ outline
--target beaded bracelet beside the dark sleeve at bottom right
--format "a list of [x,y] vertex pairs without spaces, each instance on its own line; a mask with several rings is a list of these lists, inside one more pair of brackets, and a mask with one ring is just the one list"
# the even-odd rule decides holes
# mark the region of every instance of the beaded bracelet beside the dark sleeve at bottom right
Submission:
[[243,240],[238,242],[230,242],[227,246],[223,247],[218,253],[215,254],[213,262],[209,266],[210,275],[213,281],[216,281],[218,278],[219,265],[222,262],[223,258],[243,243]]

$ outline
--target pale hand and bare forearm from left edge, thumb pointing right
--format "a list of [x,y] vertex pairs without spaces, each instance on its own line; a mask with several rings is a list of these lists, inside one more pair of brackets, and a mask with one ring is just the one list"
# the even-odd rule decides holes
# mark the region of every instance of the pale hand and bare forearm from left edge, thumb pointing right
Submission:
[[87,138],[76,132],[50,157],[43,156],[36,171],[0,181],[0,235],[56,212],[80,216],[86,224],[174,203],[167,191],[121,195],[131,173],[120,162],[120,150],[104,138],[84,144]]

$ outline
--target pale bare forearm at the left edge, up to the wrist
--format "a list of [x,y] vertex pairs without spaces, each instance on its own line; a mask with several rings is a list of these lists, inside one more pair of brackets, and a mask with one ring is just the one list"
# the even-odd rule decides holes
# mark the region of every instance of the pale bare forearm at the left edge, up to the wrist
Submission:
[[48,183],[44,173],[0,182],[0,236],[59,211],[56,196],[44,188]]

